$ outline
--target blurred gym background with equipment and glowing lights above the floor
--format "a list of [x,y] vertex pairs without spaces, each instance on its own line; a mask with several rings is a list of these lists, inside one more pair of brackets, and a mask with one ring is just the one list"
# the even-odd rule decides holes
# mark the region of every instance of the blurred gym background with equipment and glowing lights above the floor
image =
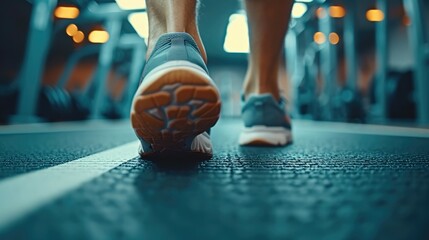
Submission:
[[[1,124],[129,117],[148,36],[143,0],[1,6]],[[428,126],[428,15],[423,0],[297,0],[279,71],[293,118]],[[201,1],[223,116],[240,115],[246,21],[239,1]]]

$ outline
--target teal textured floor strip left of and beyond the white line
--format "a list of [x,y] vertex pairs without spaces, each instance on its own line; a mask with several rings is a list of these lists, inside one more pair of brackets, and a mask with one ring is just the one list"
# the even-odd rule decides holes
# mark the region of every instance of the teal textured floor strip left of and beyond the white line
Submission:
[[[124,124],[128,127],[124,127]],[[135,140],[129,121],[124,124],[118,127],[118,123],[104,122],[73,132],[1,134],[0,180],[52,167]],[[55,125],[60,126],[61,123]],[[43,131],[44,128],[37,129]]]

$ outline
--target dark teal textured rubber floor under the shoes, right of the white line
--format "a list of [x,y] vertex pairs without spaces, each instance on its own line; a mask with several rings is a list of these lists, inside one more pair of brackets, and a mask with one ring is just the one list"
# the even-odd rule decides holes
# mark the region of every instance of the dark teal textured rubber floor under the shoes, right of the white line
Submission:
[[211,160],[133,159],[0,239],[429,238],[429,139],[294,124],[293,145],[254,148],[221,120]]

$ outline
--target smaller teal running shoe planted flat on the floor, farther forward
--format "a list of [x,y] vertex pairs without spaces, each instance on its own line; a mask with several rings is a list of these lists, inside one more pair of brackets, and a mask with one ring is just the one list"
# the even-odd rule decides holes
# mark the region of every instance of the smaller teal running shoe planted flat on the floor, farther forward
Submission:
[[244,146],[284,146],[292,142],[291,121],[286,101],[276,101],[271,94],[242,98],[244,130],[239,144]]

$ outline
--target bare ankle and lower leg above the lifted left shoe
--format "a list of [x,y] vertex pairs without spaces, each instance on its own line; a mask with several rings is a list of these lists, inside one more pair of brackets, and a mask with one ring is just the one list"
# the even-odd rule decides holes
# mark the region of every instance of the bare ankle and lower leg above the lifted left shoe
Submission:
[[197,0],[146,0],[149,17],[150,56],[159,36],[170,32],[187,32],[197,42],[204,60],[207,56],[197,27]]

